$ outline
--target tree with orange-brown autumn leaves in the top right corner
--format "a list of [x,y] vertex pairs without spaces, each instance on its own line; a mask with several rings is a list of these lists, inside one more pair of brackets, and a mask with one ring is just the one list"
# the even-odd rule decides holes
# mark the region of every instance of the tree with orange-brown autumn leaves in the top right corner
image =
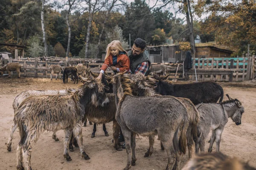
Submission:
[[207,35],[213,34],[218,44],[233,47],[238,55],[247,50],[248,43],[256,44],[255,0],[215,0],[207,4],[207,12],[211,15],[202,30]]

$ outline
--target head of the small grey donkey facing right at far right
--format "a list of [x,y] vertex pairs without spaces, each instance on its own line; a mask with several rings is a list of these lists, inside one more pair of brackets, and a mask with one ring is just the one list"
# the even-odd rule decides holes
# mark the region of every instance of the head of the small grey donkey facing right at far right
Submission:
[[229,101],[233,101],[234,104],[234,113],[231,116],[231,119],[236,123],[236,125],[241,124],[242,115],[244,113],[244,107],[242,106],[241,102],[237,99],[230,98],[229,95],[227,95]]

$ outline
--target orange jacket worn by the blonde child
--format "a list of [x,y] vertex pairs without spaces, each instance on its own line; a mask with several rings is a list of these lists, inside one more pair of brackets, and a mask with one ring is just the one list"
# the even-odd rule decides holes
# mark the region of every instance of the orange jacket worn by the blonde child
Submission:
[[[110,54],[108,58],[103,63],[102,69],[104,72],[109,66],[113,66],[113,56]],[[117,64],[115,65],[116,68],[119,68],[119,72],[128,72],[130,69],[130,60],[127,55],[119,54],[117,56]]]

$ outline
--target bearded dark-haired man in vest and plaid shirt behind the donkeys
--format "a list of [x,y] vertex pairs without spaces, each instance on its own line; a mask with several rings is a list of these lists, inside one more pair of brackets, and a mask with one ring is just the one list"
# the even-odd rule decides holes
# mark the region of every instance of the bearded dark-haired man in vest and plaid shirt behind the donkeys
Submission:
[[[150,67],[150,61],[148,56],[144,53],[146,48],[145,40],[137,38],[134,40],[134,44],[131,48],[131,51],[128,51],[128,57],[130,59],[130,73],[137,74],[138,72],[148,75],[148,70]],[[125,141],[124,136],[122,135],[122,130],[119,135],[119,142]],[[122,148],[125,149],[125,143],[122,145]]]

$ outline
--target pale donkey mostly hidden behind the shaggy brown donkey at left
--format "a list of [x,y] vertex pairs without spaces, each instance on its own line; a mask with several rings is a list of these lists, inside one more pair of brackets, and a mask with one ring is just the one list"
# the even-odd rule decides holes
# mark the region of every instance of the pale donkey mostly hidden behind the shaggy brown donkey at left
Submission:
[[[71,95],[73,94],[73,92],[75,92],[75,89],[63,89],[63,90],[28,90],[28,91],[24,91],[24,92],[20,92],[20,94],[18,94],[15,99],[13,100],[12,103],[12,108],[14,110],[14,113],[17,110],[17,107],[21,104],[21,102],[23,100],[25,100],[26,98],[28,98],[29,96],[32,95]],[[8,139],[8,143],[7,143],[7,150],[11,151],[12,150],[12,136],[13,133],[15,132],[17,128],[17,122],[15,120],[15,117],[13,119],[13,124],[11,127],[11,133]],[[56,136],[56,132],[54,131],[52,134],[52,138],[55,141],[58,141],[59,139]]]

